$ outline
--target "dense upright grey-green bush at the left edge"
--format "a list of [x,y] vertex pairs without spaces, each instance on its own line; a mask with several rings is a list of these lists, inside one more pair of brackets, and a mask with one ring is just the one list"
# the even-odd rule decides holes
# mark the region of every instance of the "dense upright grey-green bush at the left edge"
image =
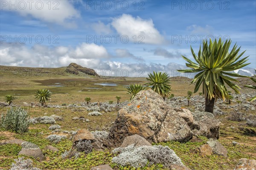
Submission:
[[8,109],[6,115],[3,113],[1,115],[0,126],[15,133],[27,132],[29,130],[29,115],[20,107]]

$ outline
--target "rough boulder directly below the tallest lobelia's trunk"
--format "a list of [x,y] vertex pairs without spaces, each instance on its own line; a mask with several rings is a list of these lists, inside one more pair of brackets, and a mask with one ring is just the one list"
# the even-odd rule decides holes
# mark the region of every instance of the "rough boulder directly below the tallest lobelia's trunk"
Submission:
[[192,112],[194,117],[193,134],[206,136],[207,138],[219,138],[220,121],[215,119],[214,115],[209,112]]

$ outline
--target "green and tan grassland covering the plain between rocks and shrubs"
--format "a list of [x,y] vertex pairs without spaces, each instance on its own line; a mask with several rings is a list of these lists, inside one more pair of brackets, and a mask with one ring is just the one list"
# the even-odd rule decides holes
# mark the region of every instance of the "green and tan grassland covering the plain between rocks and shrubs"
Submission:
[[[130,95],[127,94],[125,85],[131,83],[146,82],[145,78],[94,78],[86,75],[71,75],[63,73],[64,68],[57,69],[41,69],[41,68],[18,68],[1,66],[0,79],[0,101],[4,101],[5,95],[15,95],[17,99],[14,104],[23,105],[23,102],[30,104],[35,102],[34,93],[37,89],[46,88],[52,92],[52,104],[80,104],[84,102],[85,97],[92,98],[95,101],[114,101],[116,102],[116,95],[121,96],[121,102],[129,100]],[[15,71],[16,70],[16,71]],[[19,72],[19,73],[18,73]],[[29,73],[31,72],[31,73]],[[33,72],[41,73],[41,76],[36,76]],[[49,72],[51,73],[49,76]],[[186,92],[193,91],[194,85],[189,86],[189,78],[175,77],[172,78],[172,93],[175,96],[185,96]],[[117,86],[101,86],[95,85],[97,83],[112,83]],[[241,84],[249,84],[250,81],[242,81]],[[55,87],[60,85],[61,87]],[[240,85],[241,85],[240,84]],[[96,88],[97,89],[96,89]],[[86,89],[94,88],[94,89]],[[250,91],[250,90],[249,90]],[[249,92],[243,88],[242,92]],[[107,112],[102,116],[88,116],[88,111],[85,109],[76,108],[43,108],[43,107],[23,107],[26,109],[31,117],[38,117],[43,115],[59,115],[64,118],[63,121],[58,121],[57,124],[61,126],[61,130],[78,130],[81,128],[94,130],[108,130],[111,123],[115,120],[117,112]],[[0,112],[6,112],[7,108],[0,108]],[[220,139],[219,141],[228,150],[228,157],[222,156],[202,156],[198,152],[198,147],[206,144],[207,139],[199,137],[197,140],[192,140],[186,143],[167,142],[160,143],[169,146],[175,151],[183,163],[193,170],[228,170],[233,169],[237,164],[239,158],[256,159],[256,136],[244,134],[239,130],[241,124],[245,121],[229,121],[227,116],[233,112],[232,110],[224,110],[226,115],[217,116],[221,121]],[[256,114],[253,111],[248,114]],[[79,120],[72,120],[74,116],[83,116],[88,118],[89,122],[82,122]],[[92,153],[82,153],[80,158],[62,159],[61,153],[69,150],[72,142],[67,138],[59,144],[51,144],[46,137],[51,133],[48,130],[49,124],[32,124],[29,127],[29,132],[24,134],[15,134],[6,131],[0,131],[0,141],[6,139],[19,138],[25,141],[31,141],[43,151],[47,157],[46,161],[39,161],[31,158],[36,167],[44,170],[89,170],[90,167],[100,164],[110,164],[113,169],[131,170],[131,167],[118,167],[111,163],[111,158],[114,156],[111,149],[104,151],[95,151]],[[253,128],[256,130],[256,128]],[[59,135],[67,135],[63,133],[56,133]],[[233,146],[232,141],[239,142],[239,145]],[[59,149],[59,152],[52,152],[45,150],[45,146],[51,144]],[[21,147],[17,144],[0,145],[0,168],[7,170],[11,166],[13,159],[18,157]],[[28,157],[27,157],[28,158]],[[144,170],[163,170],[162,165],[141,168]]]

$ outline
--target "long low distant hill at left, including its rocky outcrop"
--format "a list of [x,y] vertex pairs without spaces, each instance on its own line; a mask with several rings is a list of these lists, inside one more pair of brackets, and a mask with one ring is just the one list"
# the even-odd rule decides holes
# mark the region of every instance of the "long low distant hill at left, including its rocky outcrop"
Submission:
[[15,77],[54,77],[54,76],[81,76],[81,77],[99,77],[99,75],[90,68],[82,67],[76,63],[70,63],[69,66],[58,68],[44,67],[20,67],[20,66],[0,66],[0,76]]

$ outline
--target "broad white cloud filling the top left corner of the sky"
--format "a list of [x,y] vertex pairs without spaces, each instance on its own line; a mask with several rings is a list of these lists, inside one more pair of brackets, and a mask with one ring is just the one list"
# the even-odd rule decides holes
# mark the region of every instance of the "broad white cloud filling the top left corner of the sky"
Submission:
[[[7,4],[6,4],[7,3]],[[10,4],[14,4],[11,6]],[[74,27],[73,19],[80,17],[79,12],[68,0],[33,0],[33,1],[4,1],[1,8],[17,12],[24,17],[33,17],[47,23],[57,23],[66,27]]]

